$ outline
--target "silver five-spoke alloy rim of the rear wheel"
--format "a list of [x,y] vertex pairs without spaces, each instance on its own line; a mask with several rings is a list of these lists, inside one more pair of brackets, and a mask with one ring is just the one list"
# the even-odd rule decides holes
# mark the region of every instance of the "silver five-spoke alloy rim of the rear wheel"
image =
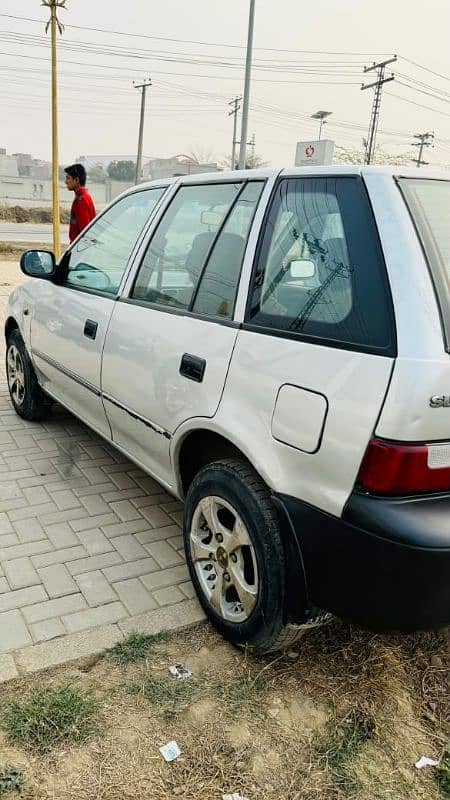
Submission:
[[244,622],[259,592],[252,540],[233,506],[221,497],[203,498],[194,511],[190,551],[201,590],[216,614]]

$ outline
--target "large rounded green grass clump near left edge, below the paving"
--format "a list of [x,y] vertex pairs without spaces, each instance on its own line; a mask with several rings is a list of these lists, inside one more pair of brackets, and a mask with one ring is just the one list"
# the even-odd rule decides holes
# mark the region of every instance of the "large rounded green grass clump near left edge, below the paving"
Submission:
[[32,689],[2,708],[0,725],[13,744],[41,752],[61,742],[82,742],[98,729],[97,703],[72,686]]

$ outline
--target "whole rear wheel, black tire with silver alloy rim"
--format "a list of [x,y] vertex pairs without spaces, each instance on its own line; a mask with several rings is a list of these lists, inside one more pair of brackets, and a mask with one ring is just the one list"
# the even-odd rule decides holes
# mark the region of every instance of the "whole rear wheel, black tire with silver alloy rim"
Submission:
[[204,467],[191,483],[184,526],[186,558],[201,605],[222,635],[268,653],[304,632],[283,623],[285,566],[270,492],[245,461]]

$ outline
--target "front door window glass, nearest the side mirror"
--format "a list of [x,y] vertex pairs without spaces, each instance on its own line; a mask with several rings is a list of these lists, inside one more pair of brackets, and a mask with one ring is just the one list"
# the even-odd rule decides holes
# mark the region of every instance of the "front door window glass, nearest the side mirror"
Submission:
[[81,235],[67,256],[65,285],[116,294],[131,251],[164,187],[127,195]]

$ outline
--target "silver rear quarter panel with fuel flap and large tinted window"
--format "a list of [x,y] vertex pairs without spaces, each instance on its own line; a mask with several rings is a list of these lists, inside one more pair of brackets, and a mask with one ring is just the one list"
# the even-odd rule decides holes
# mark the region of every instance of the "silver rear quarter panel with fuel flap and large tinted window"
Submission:
[[244,303],[217,423],[275,491],[340,515],[396,354],[358,174],[279,178]]

